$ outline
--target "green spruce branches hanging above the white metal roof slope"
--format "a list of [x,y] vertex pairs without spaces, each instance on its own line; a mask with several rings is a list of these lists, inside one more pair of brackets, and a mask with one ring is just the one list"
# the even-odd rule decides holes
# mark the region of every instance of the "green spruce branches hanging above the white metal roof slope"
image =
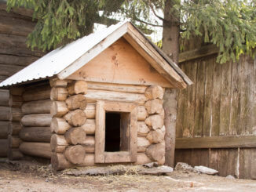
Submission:
[[31,49],[49,50],[90,34],[94,22],[100,18],[100,10],[109,14],[122,3],[118,0],[8,0],[7,10],[20,6],[34,9],[33,18],[38,21],[27,44]]

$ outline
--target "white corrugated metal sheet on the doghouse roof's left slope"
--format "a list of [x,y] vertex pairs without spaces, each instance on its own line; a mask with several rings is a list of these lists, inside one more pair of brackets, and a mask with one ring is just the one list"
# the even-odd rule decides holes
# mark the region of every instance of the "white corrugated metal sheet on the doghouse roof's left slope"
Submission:
[[126,24],[126,22],[112,25],[102,31],[97,31],[96,33],[79,38],[62,48],[53,50],[23,70],[13,74],[13,76],[7,78],[4,82],[1,82],[0,87],[53,77],[92,49],[94,45],[97,45],[104,38],[108,37],[109,34],[112,34],[113,31]]

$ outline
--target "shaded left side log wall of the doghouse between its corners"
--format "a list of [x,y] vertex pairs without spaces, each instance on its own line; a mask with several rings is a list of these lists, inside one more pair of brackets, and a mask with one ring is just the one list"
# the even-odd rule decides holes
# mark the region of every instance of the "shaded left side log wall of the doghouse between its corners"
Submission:
[[22,128],[18,136],[20,144],[17,147],[25,155],[51,158],[50,138],[52,133],[50,123],[52,117],[50,108],[52,101],[50,100],[50,90],[48,81],[37,82],[24,87],[22,93],[24,102],[20,106]]

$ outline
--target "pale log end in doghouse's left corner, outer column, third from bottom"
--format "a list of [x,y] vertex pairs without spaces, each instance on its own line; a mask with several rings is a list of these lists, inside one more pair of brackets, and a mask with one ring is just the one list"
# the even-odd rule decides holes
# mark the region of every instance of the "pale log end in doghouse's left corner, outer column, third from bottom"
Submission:
[[70,128],[71,125],[69,125],[64,118],[53,118],[51,122],[51,132],[55,132],[59,135],[63,135]]

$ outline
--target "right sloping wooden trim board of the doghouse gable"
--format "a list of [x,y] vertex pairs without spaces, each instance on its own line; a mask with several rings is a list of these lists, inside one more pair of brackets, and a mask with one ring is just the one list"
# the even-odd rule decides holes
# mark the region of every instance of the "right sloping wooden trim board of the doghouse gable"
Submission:
[[169,63],[163,59],[163,56],[155,50],[132,24],[128,24],[128,32],[124,35],[124,38],[126,38],[126,41],[129,42],[138,53],[144,56],[145,60],[148,60],[148,62],[152,64],[152,67],[154,67],[159,74],[163,75],[163,77],[174,85],[174,88],[186,88],[187,84],[181,76],[174,71],[173,67],[170,67]]

